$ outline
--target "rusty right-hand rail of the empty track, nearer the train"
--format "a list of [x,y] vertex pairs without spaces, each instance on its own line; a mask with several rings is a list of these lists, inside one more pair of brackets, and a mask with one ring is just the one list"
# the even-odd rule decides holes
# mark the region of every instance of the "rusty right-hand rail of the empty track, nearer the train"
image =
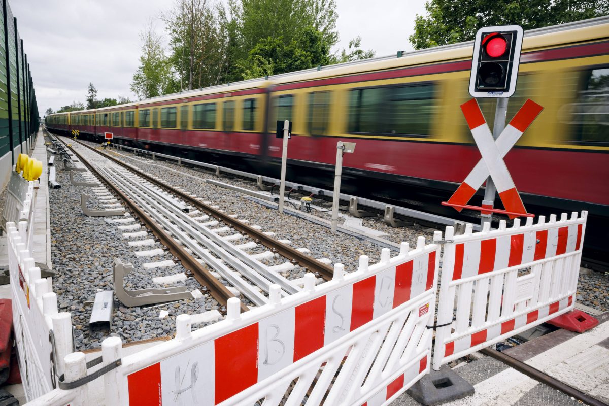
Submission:
[[289,245],[284,244],[271,236],[267,236],[262,231],[257,230],[255,228],[253,228],[252,226],[247,225],[244,222],[241,222],[238,219],[234,219],[233,217],[230,217],[230,215],[228,215],[224,212],[221,212],[219,209],[214,209],[213,207],[211,207],[211,205],[207,205],[207,204],[203,203],[202,201],[198,200],[197,198],[194,198],[191,195],[186,194],[185,192],[179,191],[175,187],[169,186],[168,184],[165,184],[165,183],[153,178],[151,175],[148,175],[147,173],[144,173],[139,169],[135,169],[132,166],[128,166],[124,162],[120,161],[117,158],[114,158],[113,156],[108,155],[105,152],[98,151],[98,150],[94,149],[93,147],[91,147],[90,145],[86,145],[83,142],[80,142],[79,140],[76,140],[76,141],[80,145],[83,145],[84,147],[87,147],[88,149],[93,150],[94,152],[99,153],[102,156],[105,156],[106,158],[110,159],[114,163],[117,163],[117,164],[121,165],[122,167],[125,167],[126,169],[136,173],[137,175],[145,178],[146,180],[149,180],[150,182],[155,183],[160,187],[163,187],[163,189],[165,189],[166,191],[179,196],[181,199],[185,200],[192,206],[195,206],[195,208],[201,209],[201,210],[205,211],[207,214],[209,214],[213,217],[216,217],[216,219],[220,220],[221,222],[223,222],[227,225],[230,225],[232,228],[236,229],[237,231],[241,231],[242,233],[247,234],[247,236],[249,236],[253,240],[257,240],[262,245],[264,245],[268,248],[271,248],[272,250],[275,250],[281,256],[286,257],[287,259],[290,259],[291,261],[297,262],[298,264],[301,265],[301,267],[306,268],[311,272],[319,273],[319,275],[322,276],[322,278],[324,278],[328,281],[332,279],[332,277],[334,275],[334,270],[330,265],[317,261],[317,259],[315,259],[314,257],[308,256],[305,253],[301,253],[300,251],[296,250],[295,248],[292,248]]

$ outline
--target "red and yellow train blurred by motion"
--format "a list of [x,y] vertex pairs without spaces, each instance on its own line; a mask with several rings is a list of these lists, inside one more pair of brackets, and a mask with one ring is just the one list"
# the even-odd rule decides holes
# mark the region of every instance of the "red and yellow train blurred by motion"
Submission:
[[[456,217],[440,202],[481,157],[459,108],[470,99],[472,46],[51,114],[46,126],[80,136],[108,131],[114,142],[277,175],[275,122],[290,120],[292,180],[331,185],[336,142],[354,141],[343,190]],[[527,98],[544,110],[505,156],[524,204],[535,214],[588,210],[585,256],[607,262],[609,17],[526,32],[508,121]],[[479,102],[492,128],[496,100]],[[479,204],[481,194],[476,198]]]

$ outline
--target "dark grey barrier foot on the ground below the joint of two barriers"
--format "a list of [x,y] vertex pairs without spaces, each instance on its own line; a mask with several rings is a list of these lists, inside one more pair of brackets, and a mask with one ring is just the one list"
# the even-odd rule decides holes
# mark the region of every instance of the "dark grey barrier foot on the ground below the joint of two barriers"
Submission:
[[443,365],[440,371],[432,369],[406,393],[420,404],[435,406],[471,396],[474,394],[474,387],[448,366]]

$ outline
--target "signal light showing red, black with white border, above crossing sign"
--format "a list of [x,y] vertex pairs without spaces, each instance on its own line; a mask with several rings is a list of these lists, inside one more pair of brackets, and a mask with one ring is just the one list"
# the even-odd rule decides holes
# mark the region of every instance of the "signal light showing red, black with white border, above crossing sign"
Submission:
[[516,90],[523,27],[484,27],[476,33],[471,61],[473,97],[510,97]]

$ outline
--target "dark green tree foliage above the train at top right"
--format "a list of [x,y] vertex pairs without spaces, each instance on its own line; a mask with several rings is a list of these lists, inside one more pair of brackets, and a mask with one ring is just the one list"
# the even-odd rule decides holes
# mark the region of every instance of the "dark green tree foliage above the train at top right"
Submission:
[[525,30],[609,14],[597,0],[429,0],[417,15],[409,41],[415,49],[473,40],[485,26],[519,24]]

